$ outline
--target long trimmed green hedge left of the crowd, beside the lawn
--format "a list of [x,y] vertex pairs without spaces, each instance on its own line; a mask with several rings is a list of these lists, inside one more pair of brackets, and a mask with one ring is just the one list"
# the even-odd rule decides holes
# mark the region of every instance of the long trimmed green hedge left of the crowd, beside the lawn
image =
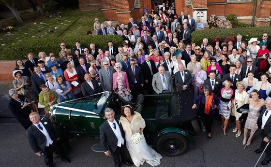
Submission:
[[95,43],[96,48],[105,49],[108,46],[108,41],[112,41],[114,46],[122,46],[122,37],[120,35],[85,35],[68,38],[42,38],[42,39],[28,39],[15,42],[8,46],[2,52],[2,60],[15,60],[16,58],[27,59],[28,53],[33,53],[38,58],[39,52],[45,52],[47,55],[50,52],[58,55],[60,51],[60,43],[64,42],[66,47],[73,49],[75,41],[80,40],[81,46],[90,47],[90,43]]

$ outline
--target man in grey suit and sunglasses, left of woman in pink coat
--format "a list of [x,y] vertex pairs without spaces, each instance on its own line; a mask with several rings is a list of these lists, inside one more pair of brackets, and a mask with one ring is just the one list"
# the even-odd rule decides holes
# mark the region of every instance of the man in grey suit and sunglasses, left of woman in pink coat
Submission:
[[113,89],[113,73],[116,72],[114,67],[109,66],[109,62],[105,60],[103,62],[104,68],[99,70],[101,89],[103,92],[111,91]]

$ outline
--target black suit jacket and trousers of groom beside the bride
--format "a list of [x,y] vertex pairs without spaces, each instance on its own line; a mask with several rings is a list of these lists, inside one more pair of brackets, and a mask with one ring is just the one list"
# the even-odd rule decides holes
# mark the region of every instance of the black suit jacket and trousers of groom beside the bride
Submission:
[[110,151],[113,154],[115,167],[120,167],[121,165],[120,156],[121,156],[122,163],[127,162],[126,143],[125,143],[125,134],[122,129],[122,126],[118,124],[119,121],[117,119],[115,120],[117,122],[116,126],[120,127],[120,133],[121,133],[122,138],[124,139],[124,144],[123,145],[121,144],[121,147],[118,147],[118,138],[113,132],[108,121],[105,121],[100,126],[100,139],[101,139],[101,145],[104,149],[104,152]]

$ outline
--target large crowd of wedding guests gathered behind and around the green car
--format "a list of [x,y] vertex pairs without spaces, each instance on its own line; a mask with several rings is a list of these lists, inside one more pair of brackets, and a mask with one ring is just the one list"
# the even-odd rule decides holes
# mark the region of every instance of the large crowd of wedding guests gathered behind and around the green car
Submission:
[[[138,24],[131,17],[127,25],[108,22],[105,27],[95,18],[97,35],[120,35],[121,46],[108,41],[106,48],[97,48],[95,43],[88,47],[78,40],[73,49],[60,43],[57,54],[40,52],[35,58],[29,53],[25,62],[16,59],[9,108],[18,121],[27,129],[30,112],[43,108],[49,116],[53,104],[93,98],[105,91],[114,90],[127,101],[135,101],[140,94],[193,91],[191,107],[197,108],[200,102],[197,114],[208,139],[212,120],[220,114],[224,135],[234,116],[232,132],[240,137],[243,131],[243,144],[250,145],[262,108],[271,101],[268,34],[260,41],[251,38],[245,42],[239,34],[236,39],[228,36],[195,43],[191,41],[193,31],[204,28],[200,19],[195,22],[191,14],[183,12],[178,16],[165,4],[158,9],[146,12]],[[249,112],[242,113],[245,110]]]

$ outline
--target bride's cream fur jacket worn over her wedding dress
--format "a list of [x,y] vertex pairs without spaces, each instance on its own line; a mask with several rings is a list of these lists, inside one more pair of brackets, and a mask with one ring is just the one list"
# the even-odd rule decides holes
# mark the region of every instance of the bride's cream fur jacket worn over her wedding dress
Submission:
[[128,135],[128,136],[132,136],[133,134],[139,132],[140,128],[144,128],[146,126],[145,121],[142,118],[141,114],[136,111],[135,111],[135,115],[131,124],[123,116],[120,117],[120,123],[125,132],[125,135]]

